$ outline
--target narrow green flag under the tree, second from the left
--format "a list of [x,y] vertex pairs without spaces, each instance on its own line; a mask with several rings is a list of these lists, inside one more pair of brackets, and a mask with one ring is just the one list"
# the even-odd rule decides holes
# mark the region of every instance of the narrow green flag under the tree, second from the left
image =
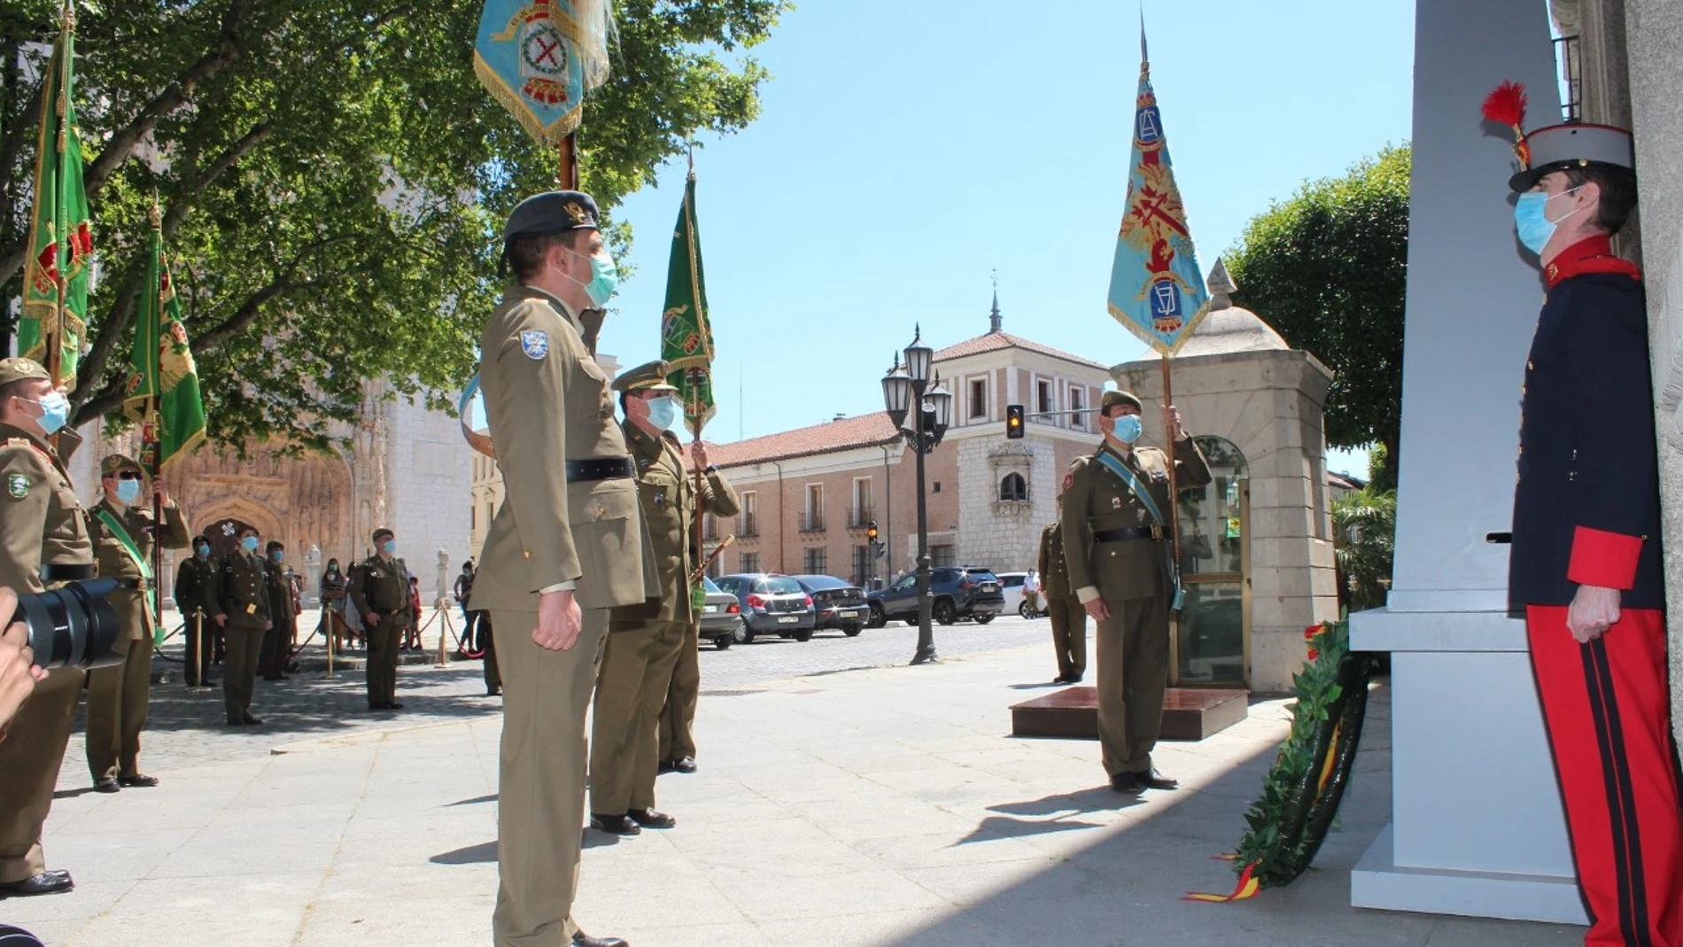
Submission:
[[148,422],[148,447],[157,451],[148,468],[162,473],[205,439],[205,402],[199,392],[199,367],[187,347],[175,281],[163,257],[157,207],[151,209],[151,246],[140,293],[123,410],[133,421]]

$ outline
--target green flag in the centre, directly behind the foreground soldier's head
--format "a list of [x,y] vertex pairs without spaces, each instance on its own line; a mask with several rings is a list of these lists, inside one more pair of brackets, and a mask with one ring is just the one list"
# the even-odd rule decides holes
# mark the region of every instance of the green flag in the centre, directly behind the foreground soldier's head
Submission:
[[714,330],[707,325],[707,278],[702,235],[695,230],[695,172],[683,185],[678,229],[666,266],[666,309],[660,318],[660,357],[672,367],[666,382],[683,399],[683,421],[700,437],[714,415]]

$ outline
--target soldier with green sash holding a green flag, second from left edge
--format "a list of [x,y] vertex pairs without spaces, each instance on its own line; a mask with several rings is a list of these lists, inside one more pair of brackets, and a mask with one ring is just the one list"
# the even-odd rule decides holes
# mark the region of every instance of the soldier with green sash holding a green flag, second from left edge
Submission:
[[88,673],[88,770],[98,792],[158,784],[158,777],[140,772],[140,732],[146,725],[151,698],[151,639],[157,631],[151,597],[158,582],[151,574],[151,547],[158,542],[163,548],[185,548],[192,530],[180,506],[170,500],[162,476],[151,483],[153,496],[163,505],[163,528],[158,530],[151,505],[141,501],[143,483],[145,474],[131,458],[104,458],[99,461],[104,498],[88,516],[99,575],[133,584],[111,592],[109,599],[123,621],[123,634],[116,641],[123,663]]

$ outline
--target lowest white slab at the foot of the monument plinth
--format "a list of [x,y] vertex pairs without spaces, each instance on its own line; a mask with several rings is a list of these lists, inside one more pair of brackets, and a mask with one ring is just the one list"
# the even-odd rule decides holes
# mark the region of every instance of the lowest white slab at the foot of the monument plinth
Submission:
[[1572,878],[1399,866],[1392,826],[1385,826],[1350,871],[1350,903],[1358,908],[1589,923]]

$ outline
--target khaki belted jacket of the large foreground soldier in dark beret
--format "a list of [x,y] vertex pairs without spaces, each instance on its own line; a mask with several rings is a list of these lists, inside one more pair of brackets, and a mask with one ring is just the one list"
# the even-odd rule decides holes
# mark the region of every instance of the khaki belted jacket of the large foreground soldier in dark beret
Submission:
[[567,483],[567,461],[624,458],[608,375],[560,299],[513,286],[480,336],[480,387],[503,474],[503,505],[478,560],[473,606],[537,612],[574,582],[582,609],[660,594],[631,478]]

